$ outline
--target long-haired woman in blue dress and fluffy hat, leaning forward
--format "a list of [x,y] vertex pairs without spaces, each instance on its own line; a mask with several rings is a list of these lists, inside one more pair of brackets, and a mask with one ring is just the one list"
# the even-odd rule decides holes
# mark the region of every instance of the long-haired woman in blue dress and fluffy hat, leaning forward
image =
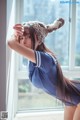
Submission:
[[80,120],[80,82],[63,76],[57,58],[44,44],[48,33],[63,24],[62,18],[50,25],[38,21],[16,24],[8,45],[29,60],[31,82],[65,104],[64,120]]

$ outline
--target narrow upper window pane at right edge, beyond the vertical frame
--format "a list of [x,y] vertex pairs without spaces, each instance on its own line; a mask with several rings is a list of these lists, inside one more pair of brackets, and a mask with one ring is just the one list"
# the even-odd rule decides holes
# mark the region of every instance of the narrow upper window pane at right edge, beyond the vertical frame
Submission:
[[75,65],[80,66],[80,5],[77,4],[76,15],[76,54]]

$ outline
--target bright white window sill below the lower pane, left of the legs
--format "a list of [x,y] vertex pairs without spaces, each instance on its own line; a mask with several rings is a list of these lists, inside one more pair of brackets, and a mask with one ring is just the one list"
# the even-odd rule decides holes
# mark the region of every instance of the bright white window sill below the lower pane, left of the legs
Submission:
[[18,113],[14,120],[63,120],[63,111]]

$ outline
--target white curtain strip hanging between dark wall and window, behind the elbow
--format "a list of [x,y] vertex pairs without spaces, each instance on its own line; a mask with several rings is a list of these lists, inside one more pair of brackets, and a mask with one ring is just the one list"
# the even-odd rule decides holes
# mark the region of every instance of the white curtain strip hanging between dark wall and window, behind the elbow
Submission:
[[15,89],[15,53],[9,49],[7,41],[13,34],[12,26],[15,24],[15,0],[7,0],[7,39],[6,39],[6,106],[8,111],[8,120],[14,117],[14,89]]

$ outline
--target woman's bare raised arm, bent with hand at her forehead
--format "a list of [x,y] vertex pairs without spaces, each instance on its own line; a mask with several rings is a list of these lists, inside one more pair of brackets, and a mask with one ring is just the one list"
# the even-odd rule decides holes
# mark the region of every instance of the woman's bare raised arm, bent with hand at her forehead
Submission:
[[[20,31],[21,32],[21,31]],[[22,34],[20,33],[19,30],[15,31],[15,34],[17,33],[18,35]],[[23,55],[24,57],[26,57],[28,60],[32,61],[32,62],[36,62],[35,60],[35,53],[34,50],[32,50],[31,48],[28,48],[22,44],[19,43],[17,37],[12,37],[8,40],[8,46],[15,50],[16,52],[18,52],[19,54]]]

